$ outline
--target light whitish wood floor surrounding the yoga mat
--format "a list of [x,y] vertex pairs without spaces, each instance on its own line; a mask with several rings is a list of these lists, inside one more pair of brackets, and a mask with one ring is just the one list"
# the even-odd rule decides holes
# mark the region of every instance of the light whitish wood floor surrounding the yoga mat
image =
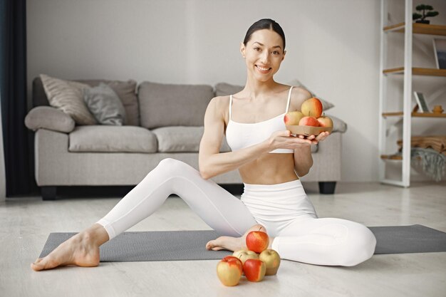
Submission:
[[[304,184],[319,217],[366,226],[423,224],[446,231],[446,184],[408,189],[340,183],[320,195]],[[224,287],[218,260],[104,263],[35,272],[29,267],[50,232],[80,231],[105,215],[118,197],[43,202],[40,197],[0,204],[0,296],[445,296],[446,253],[375,255],[354,267],[282,261],[279,273],[259,283]],[[179,197],[170,197],[129,231],[210,229]]]

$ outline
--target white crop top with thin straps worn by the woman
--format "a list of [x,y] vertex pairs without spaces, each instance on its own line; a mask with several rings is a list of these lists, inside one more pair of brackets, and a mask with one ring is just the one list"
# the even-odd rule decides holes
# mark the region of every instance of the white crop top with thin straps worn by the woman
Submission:
[[[232,151],[256,145],[268,139],[271,133],[286,130],[284,115],[288,113],[291,90],[293,90],[293,87],[289,89],[285,113],[259,123],[237,123],[231,120],[232,95],[229,96],[229,122],[226,127],[226,140]],[[270,153],[291,154],[294,153],[294,150],[279,148]]]

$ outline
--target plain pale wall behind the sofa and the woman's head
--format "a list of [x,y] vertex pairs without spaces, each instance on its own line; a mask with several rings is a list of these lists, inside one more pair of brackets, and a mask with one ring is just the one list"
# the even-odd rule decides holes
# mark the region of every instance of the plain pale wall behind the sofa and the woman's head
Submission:
[[262,18],[279,22],[286,59],[276,80],[299,78],[346,121],[343,181],[378,179],[380,1],[27,1],[28,83],[61,78],[244,84],[239,43]]

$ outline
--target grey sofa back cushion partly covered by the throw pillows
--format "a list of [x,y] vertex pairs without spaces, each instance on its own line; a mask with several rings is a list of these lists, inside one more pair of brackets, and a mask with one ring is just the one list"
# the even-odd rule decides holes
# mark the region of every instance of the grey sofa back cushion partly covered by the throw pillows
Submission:
[[138,98],[136,97],[135,80],[76,80],[95,87],[100,83],[105,83],[112,88],[120,98],[125,108],[124,125],[139,126],[140,110],[138,108]]

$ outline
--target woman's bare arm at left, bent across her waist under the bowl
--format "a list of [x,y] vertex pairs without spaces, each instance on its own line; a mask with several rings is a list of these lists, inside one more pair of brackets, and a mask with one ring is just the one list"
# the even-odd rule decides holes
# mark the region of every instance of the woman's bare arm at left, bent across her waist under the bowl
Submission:
[[236,170],[247,162],[276,148],[294,149],[310,143],[299,137],[290,137],[289,130],[274,132],[269,139],[234,152],[219,152],[224,135],[224,101],[213,98],[204,114],[204,133],[199,144],[199,172],[204,179]]

